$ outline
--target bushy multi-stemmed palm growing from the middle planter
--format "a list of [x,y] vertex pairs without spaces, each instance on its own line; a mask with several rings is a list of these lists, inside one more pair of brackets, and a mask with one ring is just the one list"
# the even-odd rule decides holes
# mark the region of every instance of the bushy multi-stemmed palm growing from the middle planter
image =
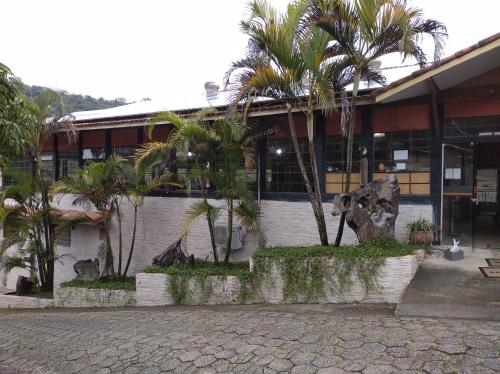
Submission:
[[[260,130],[247,126],[237,116],[217,119],[213,123],[203,121],[212,112],[211,109],[201,111],[190,118],[181,118],[170,112],[159,113],[151,120],[151,124],[170,122],[172,130],[166,143],[151,143],[138,153],[138,163],[152,164],[160,159],[161,154],[175,149],[179,158],[185,158],[190,152],[194,166],[186,178],[188,190],[190,180],[198,178],[201,186],[209,182],[215,189],[214,197],[225,200],[226,206],[215,206],[209,203],[207,191],[204,198],[191,205],[186,211],[184,232],[189,232],[194,222],[205,217],[208,223],[214,261],[218,262],[215,244],[215,222],[221,212],[227,212],[227,244],[224,262],[229,262],[234,221],[237,220],[243,229],[254,236],[259,244],[265,242],[260,227],[260,211],[248,189],[248,181],[244,167],[253,162],[253,140],[259,136]],[[236,204],[235,204],[236,202]]]

